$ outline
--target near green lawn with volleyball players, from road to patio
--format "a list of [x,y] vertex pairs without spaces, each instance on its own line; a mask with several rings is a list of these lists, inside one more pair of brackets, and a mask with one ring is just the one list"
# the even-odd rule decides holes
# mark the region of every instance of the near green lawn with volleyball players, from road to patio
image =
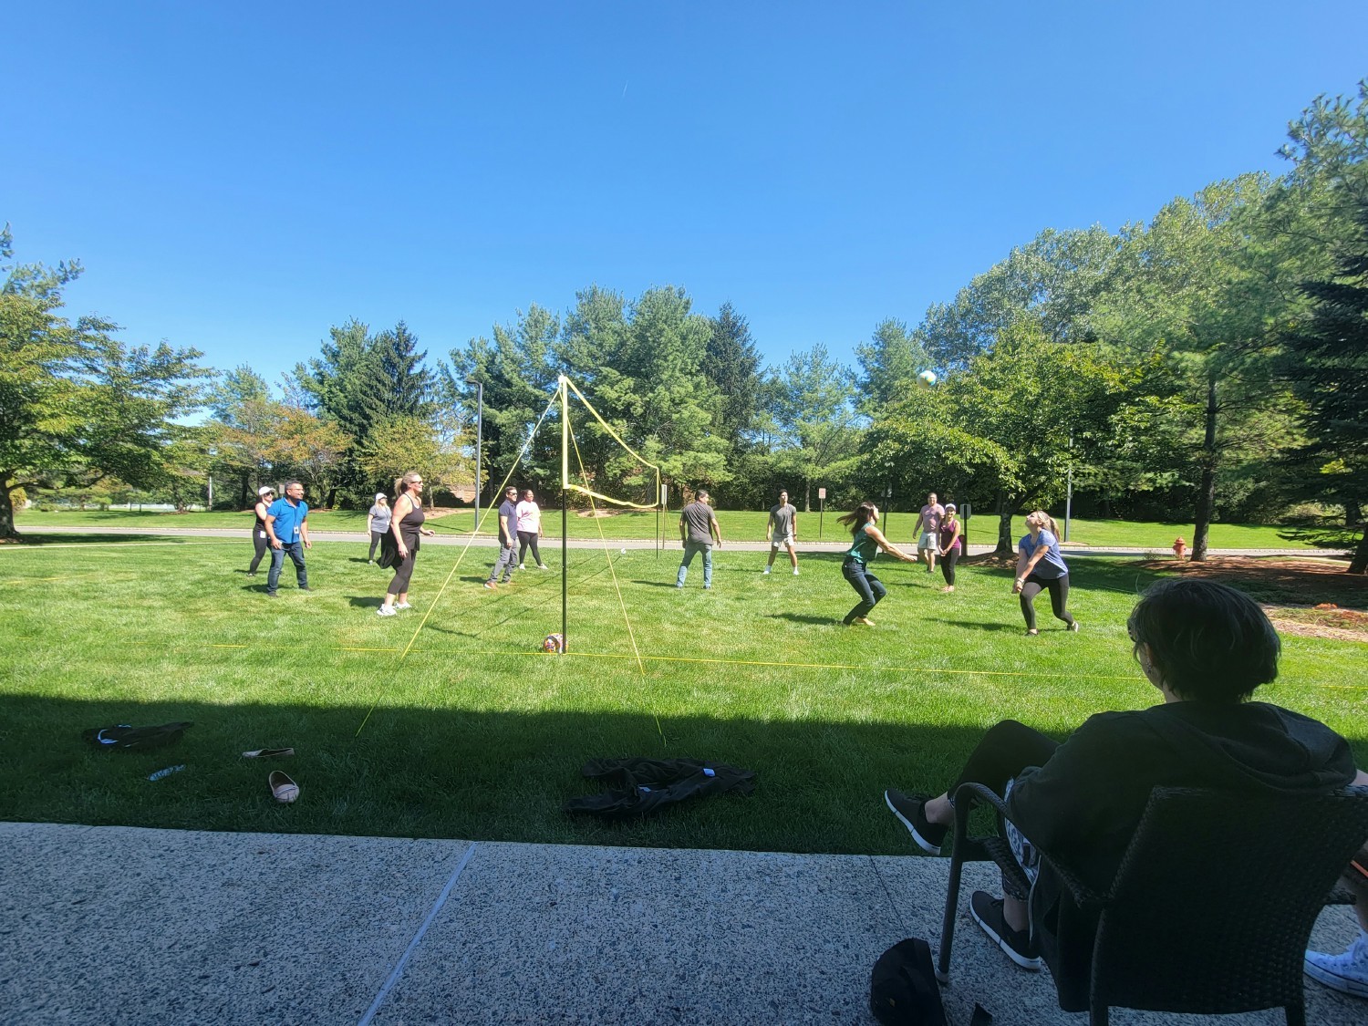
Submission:
[[[460,551],[424,550],[415,609],[380,618],[389,575],[360,544],[316,544],[315,591],[297,591],[287,564],[276,599],[264,570],[245,576],[246,542],[0,549],[0,818],[902,852],[882,789],[943,788],[989,724],[1012,715],[1064,736],[1094,711],[1156,699],[1124,629],[1152,573],[1123,561],[1077,560],[1083,631],[1055,631],[1042,603],[1044,633],[1026,639],[1005,572],[967,568],[943,595],[938,576],[882,565],[891,594],[878,627],[859,629],[837,622],[854,592],[836,557],[762,576],[763,555],[724,549],[707,592],[699,562],[687,590],[673,587],[677,550],[611,566],[579,551],[570,654],[554,657],[539,648],[560,629],[560,573],[490,592],[488,550],[457,566]],[[1283,674],[1261,692],[1345,733],[1361,765],[1363,654],[1289,637]],[[160,752],[81,739],[172,720],[196,726]],[[286,746],[298,750],[278,763],[301,785],[293,806],[271,800],[275,765],[241,758]],[[625,755],[731,762],[759,785],[625,825],[560,811],[595,791],[586,761]]]

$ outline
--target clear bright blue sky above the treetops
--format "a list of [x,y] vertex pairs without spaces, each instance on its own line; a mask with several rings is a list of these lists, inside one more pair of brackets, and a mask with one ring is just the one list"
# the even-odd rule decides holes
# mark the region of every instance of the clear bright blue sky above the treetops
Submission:
[[1044,227],[1244,171],[1368,4],[63,3],[4,18],[0,220],[68,312],[271,379],[591,283],[852,360]]

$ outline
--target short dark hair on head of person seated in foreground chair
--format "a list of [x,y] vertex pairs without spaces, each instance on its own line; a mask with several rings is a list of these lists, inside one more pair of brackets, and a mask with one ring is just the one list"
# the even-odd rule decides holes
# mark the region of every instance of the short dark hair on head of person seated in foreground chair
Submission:
[[1224,584],[1160,581],[1127,627],[1135,651],[1149,646],[1164,684],[1179,698],[1239,702],[1278,679],[1278,632],[1257,602]]

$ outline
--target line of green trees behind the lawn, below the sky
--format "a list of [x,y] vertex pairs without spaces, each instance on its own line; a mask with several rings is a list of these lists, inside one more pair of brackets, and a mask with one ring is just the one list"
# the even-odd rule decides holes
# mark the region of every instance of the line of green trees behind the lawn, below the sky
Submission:
[[[404,321],[347,321],[272,389],[64,319],[81,267],[15,264],[5,230],[0,535],[18,490],[181,505],[212,477],[242,506],[289,475],[326,505],[368,505],[412,466],[469,487],[477,387],[486,499],[524,446],[518,484],[553,491],[547,401],[565,373],[674,498],[707,486],[720,505],[763,506],[787,487],[807,509],[825,487],[834,503],[912,506],[934,490],[996,514],[1010,547],[1011,518],[1056,505],[1071,477],[1089,512],[1194,520],[1194,558],[1216,518],[1280,516],[1356,544],[1364,572],[1368,79],[1317,97],[1280,152],[1286,174],[1215,182],[1148,222],[1045,228],[915,324],[874,326],[854,365],[818,345],[765,367],[731,304],[706,315],[684,289],[595,285],[431,363]],[[543,413],[550,430],[529,439]],[[575,435],[572,472],[650,501],[654,475],[609,431],[576,417]]]

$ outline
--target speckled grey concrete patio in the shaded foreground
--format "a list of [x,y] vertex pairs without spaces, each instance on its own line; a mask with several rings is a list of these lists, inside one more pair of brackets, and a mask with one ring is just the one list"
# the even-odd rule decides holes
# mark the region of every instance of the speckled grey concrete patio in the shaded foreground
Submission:
[[[7,1023],[873,1023],[947,859],[0,824]],[[992,888],[970,866],[966,886]],[[952,1023],[1086,1023],[960,915]],[[1347,908],[1313,943],[1343,949]],[[1306,981],[1309,1022],[1368,1001]],[[1280,1012],[1115,1023],[1280,1023]]]

